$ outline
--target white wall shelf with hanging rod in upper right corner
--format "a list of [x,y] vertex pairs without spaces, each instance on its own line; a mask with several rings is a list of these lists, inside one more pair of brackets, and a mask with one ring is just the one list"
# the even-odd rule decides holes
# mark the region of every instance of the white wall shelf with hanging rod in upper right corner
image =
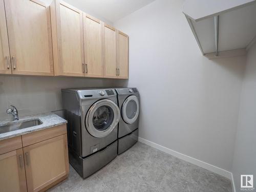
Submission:
[[245,55],[256,41],[255,0],[186,0],[183,13],[203,55]]

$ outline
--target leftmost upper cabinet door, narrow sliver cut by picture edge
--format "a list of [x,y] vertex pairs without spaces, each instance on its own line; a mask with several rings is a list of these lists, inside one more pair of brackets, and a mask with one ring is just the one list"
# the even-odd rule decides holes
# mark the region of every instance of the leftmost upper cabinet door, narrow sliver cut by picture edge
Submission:
[[0,73],[12,73],[4,0],[0,0]]

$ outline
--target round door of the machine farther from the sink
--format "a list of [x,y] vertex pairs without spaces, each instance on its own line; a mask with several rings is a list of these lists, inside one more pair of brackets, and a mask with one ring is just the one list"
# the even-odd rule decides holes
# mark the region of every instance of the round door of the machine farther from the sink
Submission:
[[124,100],[122,105],[122,118],[126,123],[134,123],[139,116],[139,111],[139,100],[135,95],[131,95]]

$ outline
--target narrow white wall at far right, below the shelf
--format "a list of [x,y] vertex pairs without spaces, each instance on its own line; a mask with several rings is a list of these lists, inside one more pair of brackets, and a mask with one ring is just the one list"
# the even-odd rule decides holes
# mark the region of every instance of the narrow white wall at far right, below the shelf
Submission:
[[237,191],[240,175],[256,177],[256,44],[249,50],[243,81],[241,107],[232,173]]

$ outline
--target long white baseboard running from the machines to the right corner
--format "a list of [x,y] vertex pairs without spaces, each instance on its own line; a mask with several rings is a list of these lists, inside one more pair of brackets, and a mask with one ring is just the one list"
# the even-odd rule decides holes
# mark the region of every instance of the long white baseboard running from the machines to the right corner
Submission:
[[[170,149],[167,148],[167,147],[164,147],[164,146],[159,145],[159,144],[157,144],[157,143],[154,143],[154,142],[152,142],[152,141],[148,141],[148,140],[143,139],[143,138],[141,138],[141,137],[138,138],[138,141],[139,141],[139,142],[142,142],[142,143],[144,143],[144,144],[146,144],[146,145],[152,146],[152,147],[154,147],[154,148],[157,148],[158,150],[160,150],[160,151],[162,151],[162,152],[165,152],[165,153],[167,153],[167,154],[170,154],[170,155],[173,155],[173,156],[175,156],[175,157],[178,157],[179,159],[182,159],[182,160],[187,161],[187,162],[189,162],[189,163],[193,163],[193,164],[195,164],[195,165],[197,165],[197,166],[200,166],[200,167],[202,167],[202,168],[205,168],[205,169],[207,169],[207,170],[210,170],[211,172],[214,172],[214,173],[219,174],[219,175],[221,175],[221,176],[223,176],[223,177],[226,177],[226,178],[230,179],[231,182],[232,182],[232,184],[233,184],[233,181],[232,181],[232,173],[231,173],[231,172],[228,172],[227,170],[225,170],[225,169],[223,169],[223,168],[217,167],[217,166],[215,166],[215,165],[211,165],[211,164],[209,164],[209,163],[203,162],[203,161],[198,160],[198,159],[195,159],[195,158],[193,158],[193,157],[189,157],[189,156],[187,156],[187,155],[184,155],[184,154],[182,154],[182,153],[176,152],[176,151],[174,151],[174,150],[170,150]],[[233,192],[236,192],[236,190],[234,190]]]

